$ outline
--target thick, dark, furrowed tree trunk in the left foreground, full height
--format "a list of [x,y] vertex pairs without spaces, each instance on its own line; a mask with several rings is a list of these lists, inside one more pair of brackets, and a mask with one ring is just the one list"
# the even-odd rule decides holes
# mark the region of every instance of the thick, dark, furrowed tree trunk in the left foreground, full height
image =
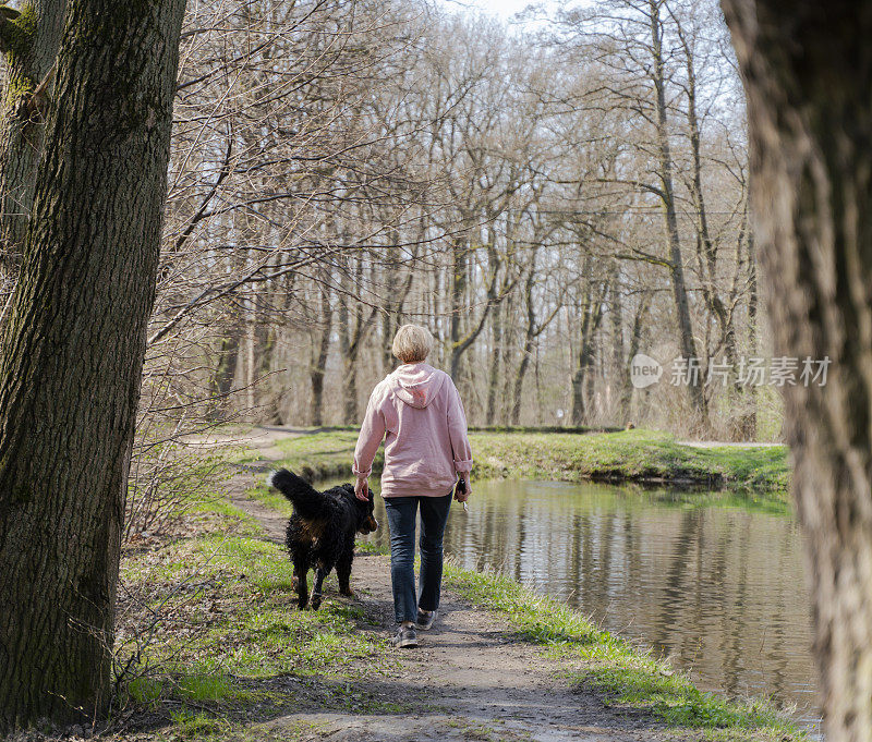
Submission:
[[100,714],[184,0],[71,0],[0,361],[0,728]]

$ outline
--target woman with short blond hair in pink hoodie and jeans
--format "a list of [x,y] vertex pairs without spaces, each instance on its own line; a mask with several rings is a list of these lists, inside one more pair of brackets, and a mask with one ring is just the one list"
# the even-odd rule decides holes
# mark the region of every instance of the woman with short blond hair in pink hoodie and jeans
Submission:
[[[402,365],[376,385],[366,405],[352,471],[354,491],[368,497],[367,477],[385,440],[382,497],[390,526],[390,580],[399,628],[395,646],[417,646],[419,629],[429,629],[439,607],[443,580],[443,534],[458,475],[469,484],[472,450],[463,404],[451,377],[424,363],[433,336],[423,327],[403,325],[393,338],[393,355]],[[421,589],[415,598],[415,520],[421,510]]]

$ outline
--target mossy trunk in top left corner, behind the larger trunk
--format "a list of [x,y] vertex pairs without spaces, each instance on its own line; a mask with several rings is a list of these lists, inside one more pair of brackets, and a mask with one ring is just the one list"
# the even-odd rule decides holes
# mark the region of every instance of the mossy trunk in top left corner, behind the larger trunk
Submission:
[[[0,269],[4,282],[14,280],[21,265],[43,153],[49,77],[65,10],[66,0],[28,0],[19,14],[0,16],[0,51],[8,65],[0,105]],[[34,100],[40,84],[45,89]]]

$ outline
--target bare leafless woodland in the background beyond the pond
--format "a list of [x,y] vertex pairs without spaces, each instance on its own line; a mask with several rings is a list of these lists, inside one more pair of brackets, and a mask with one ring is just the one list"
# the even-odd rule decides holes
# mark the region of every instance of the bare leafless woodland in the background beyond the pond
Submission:
[[[174,441],[216,424],[354,425],[407,321],[472,425],[779,439],[778,379],[747,373],[773,362],[720,9],[522,21],[189,3],[134,490],[166,488]],[[657,385],[633,386],[639,353]],[[697,384],[670,379],[680,358]]]

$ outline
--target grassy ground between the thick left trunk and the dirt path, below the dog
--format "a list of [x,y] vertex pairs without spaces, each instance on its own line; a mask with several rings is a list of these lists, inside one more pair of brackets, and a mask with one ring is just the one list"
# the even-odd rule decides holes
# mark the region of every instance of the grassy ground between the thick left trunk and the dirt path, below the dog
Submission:
[[106,739],[249,739],[252,723],[306,709],[402,710],[371,689],[396,664],[377,619],[336,595],[335,575],[322,610],[295,610],[288,555],[261,536],[216,500],[124,555]]

